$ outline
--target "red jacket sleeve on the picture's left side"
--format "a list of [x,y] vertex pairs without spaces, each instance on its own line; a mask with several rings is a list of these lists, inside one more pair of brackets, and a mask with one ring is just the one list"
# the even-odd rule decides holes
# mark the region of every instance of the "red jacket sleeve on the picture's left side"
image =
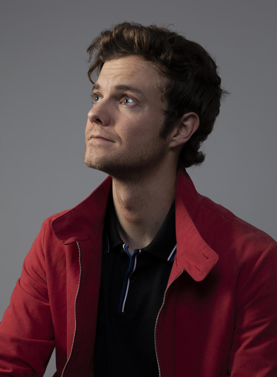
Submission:
[[43,376],[55,346],[43,240],[46,221],[23,263],[0,323],[0,376]]

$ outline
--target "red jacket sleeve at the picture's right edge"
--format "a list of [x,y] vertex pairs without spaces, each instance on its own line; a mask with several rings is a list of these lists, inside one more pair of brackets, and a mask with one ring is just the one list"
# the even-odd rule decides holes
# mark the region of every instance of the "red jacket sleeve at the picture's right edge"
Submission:
[[277,376],[277,244],[240,271],[229,371],[231,377]]

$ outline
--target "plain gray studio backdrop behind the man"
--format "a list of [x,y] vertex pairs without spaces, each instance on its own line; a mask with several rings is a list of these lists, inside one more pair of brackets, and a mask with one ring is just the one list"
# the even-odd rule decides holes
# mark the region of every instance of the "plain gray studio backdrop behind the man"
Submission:
[[[83,163],[91,84],[86,48],[112,24],[157,23],[202,44],[231,92],[188,172],[196,189],[277,239],[276,2],[1,2],[0,318],[23,259],[53,213],[105,178]],[[55,372],[54,356],[46,376]]]

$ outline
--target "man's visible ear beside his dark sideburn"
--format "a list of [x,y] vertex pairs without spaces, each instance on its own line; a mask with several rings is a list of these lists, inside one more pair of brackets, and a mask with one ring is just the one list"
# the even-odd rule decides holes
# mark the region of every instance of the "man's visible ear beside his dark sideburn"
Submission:
[[169,147],[183,147],[194,132],[199,127],[199,116],[194,112],[189,112],[179,119],[171,133]]

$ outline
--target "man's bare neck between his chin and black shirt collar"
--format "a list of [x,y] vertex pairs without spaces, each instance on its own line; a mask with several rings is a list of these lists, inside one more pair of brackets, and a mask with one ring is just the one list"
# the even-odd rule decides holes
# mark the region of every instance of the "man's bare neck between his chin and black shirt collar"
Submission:
[[129,252],[146,247],[174,201],[176,170],[151,172],[139,179],[112,179],[117,229]]

